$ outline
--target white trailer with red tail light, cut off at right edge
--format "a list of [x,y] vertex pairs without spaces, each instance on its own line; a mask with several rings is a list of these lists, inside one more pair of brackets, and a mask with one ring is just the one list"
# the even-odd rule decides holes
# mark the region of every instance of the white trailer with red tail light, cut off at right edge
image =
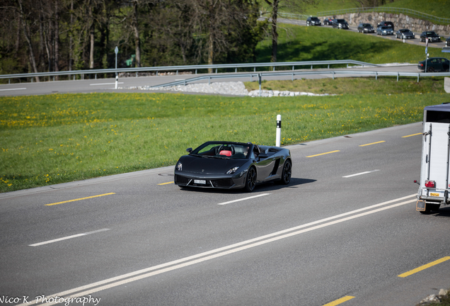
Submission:
[[417,211],[429,213],[449,205],[449,154],[450,104],[425,106]]

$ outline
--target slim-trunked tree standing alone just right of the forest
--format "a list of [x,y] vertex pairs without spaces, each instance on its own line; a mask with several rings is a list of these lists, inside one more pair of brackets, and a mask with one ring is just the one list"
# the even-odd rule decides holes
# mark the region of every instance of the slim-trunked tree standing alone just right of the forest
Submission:
[[277,48],[278,48],[278,33],[277,33],[277,18],[278,11],[282,8],[286,8],[289,11],[296,11],[301,13],[304,5],[313,5],[316,0],[264,0],[270,5],[270,19],[272,21],[272,58],[271,62],[277,62]]

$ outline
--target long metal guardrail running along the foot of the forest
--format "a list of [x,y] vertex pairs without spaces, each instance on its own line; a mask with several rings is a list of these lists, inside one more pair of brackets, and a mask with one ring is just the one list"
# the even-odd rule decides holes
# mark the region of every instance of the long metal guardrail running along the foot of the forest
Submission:
[[[306,62],[266,62],[266,63],[244,63],[244,64],[204,64],[204,65],[185,65],[185,66],[161,66],[161,67],[134,67],[134,68],[119,68],[119,69],[91,69],[91,70],[72,70],[72,71],[64,71],[64,72],[37,72],[37,73],[29,73],[29,74],[0,74],[0,79],[17,79],[17,78],[32,78],[33,77],[56,77],[56,76],[71,76],[74,77],[76,75],[83,76],[84,74],[111,74],[111,73],[120,73],[120,72],[176,72],[178,74],[179,71],[194,71],[197,74],[197,70],[199,69],[235,69],[235,72],[238,72],[239,68],[253,68],[253,71],[256,72],[257,67],[294,67],[299,66],[311,66],[313,65],[330,65],[333,64],[355,64],[362,66],[371,66],[378,67],[378,64],[371,64],[367,62],[359,62],[355,60],[329,60],[329,61],[306,61]],[[96,77],[97,78],[97,77]]]

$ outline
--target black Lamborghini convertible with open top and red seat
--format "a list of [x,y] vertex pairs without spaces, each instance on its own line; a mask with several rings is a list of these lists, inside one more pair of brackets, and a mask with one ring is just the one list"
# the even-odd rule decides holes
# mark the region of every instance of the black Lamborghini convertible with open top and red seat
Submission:
[[289,149],[216,141],[186,151],[189,154],[175,165],[175,184],[181,187],[244,188],[251,192],[258,183],[291,181]]

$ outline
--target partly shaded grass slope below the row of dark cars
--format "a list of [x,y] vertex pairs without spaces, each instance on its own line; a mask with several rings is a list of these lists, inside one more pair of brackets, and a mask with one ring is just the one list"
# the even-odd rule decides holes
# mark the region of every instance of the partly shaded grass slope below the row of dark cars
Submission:
[[[330,27],[300,27],[279,23],[277,62],[310,60],[359,60],[373,64],[415,63],[425,60],[425,45],[388,40]],[[270,62],[269,38],[258,47],[258,62]],[[442,57],[441,48],[429,47],[430,57]]]

